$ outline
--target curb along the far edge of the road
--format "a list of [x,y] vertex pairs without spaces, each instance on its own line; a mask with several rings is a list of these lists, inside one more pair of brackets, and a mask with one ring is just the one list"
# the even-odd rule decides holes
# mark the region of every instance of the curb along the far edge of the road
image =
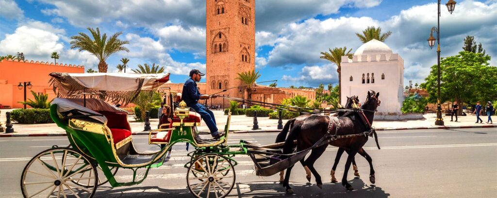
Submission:
[[[430,127],[413,127],[413,128],[376,128],[377,131],[393,131],[393,130],[418,130],[418,129],[454,129],[454,128],[497,128],[497,125],[483,125],[483,126],[430,126]],[[233,130],[230,131],[233,133],[277,133],[280,130]],[[148,131],[141,131],[132,133],[132,135],[148,135]],[[207,131],[200,131],[200,134],[206,135],[210,134]],[[1,133],[0,137],[56,137],[56,136],[67,136],[66,133],[36,133],[36,134],[27,134],[27,133]]]

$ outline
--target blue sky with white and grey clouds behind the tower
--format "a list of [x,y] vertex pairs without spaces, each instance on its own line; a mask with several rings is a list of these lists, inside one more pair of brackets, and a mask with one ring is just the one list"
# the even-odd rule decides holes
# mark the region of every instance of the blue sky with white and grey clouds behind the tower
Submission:
[[[444,4],[446,0],[443,0]],[[355,36],[367,26],[392,31],[385,43],[405,61],[405,82],[421,83],[436,63],[426,44],[436,25],[435,0],[256,0],[256,70],[260,81],[278,86],[316,87],[336,84],[336,66],[320,59],[328,48],[361,43]],[[70,49],[70,37],[99,27],[122,31],[129,53],[107,59],[115,71],[119,59],[130,67],[156,63],[166,67],[174,83],[193,68],[205,71],[204,0],[0,0],[0,54],[23,52],[26,59],[85,65],[96,70],[90,54]],[[442,57],[457,54],[463,38],[474,35],[492,57],[497,55],[497,0],[458,0],[451,15],[441,13]],[[494,58],[491,65],[496,66]]]

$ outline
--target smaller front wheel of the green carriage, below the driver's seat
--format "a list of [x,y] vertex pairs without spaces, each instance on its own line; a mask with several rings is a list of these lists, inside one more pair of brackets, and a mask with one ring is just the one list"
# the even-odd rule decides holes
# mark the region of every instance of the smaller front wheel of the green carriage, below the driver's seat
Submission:
[[228,158],[205,154],[188,168],[188,190],[197,198],[224,198],[235,186],[235,169]]

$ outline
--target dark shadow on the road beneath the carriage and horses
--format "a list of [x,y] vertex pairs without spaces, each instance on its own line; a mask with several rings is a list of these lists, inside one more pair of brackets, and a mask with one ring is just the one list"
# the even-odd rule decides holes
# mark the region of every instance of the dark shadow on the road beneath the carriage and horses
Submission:
[[[278,182],[250,182],[237,183],[230,193],[229,197],[239,198],[268,198],[268,197],[285,197],[285,198],[388,198],[390,194],[385,193],[380,187],[366,185],[360,178],[348,181],[354,191],[347,192],[341,183],[323,184],[323,190],[310,183],[291,183],[295,194],[287,195],[285,188]],[[158,187],[131,187],[124,189],[111,189],[110,187],[100,187],[95,194],[96,198],[192,198],[190,192],[185,189],[163,189]]]

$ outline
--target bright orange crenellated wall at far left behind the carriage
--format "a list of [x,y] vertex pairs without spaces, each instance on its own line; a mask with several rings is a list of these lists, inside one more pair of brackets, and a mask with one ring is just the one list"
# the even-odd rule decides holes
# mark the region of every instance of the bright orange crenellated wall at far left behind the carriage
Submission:
[[84,73],[84,66],[34,60],[2,60],[0,61],[0,104],[12,108],[22,108],[18,101],[24,100],[24,90],[17,85],[22,82],[31,82],[33,87],[26,91],[27,99],[33,99],[30,91],[48,94],[49,99],[55,98],[48,81],[52,72]]

